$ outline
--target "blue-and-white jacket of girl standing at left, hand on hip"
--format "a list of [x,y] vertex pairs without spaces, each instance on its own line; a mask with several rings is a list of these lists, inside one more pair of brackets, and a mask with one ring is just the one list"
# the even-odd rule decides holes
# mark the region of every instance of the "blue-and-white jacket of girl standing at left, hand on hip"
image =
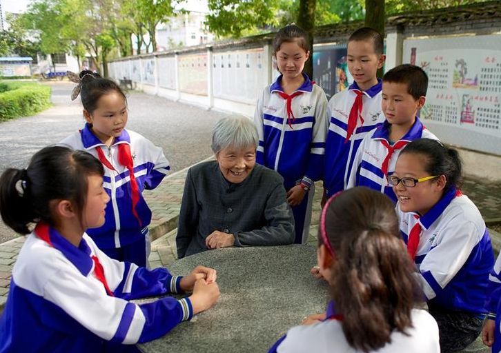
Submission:
[[[132,213],[132,194],[128,169],[119,163],[118,145],[128,143],[134,162],[134,175],[139,188],[139,202],[135,210],[141,219],[141,225]],[[97,148],[101,148],[106,159],[115,170],[104,166],[104,188],[110,195],[106,205],[106,221],[99,228],[89,229],[88,234],[99,248],[112,249],[139,241],[148,232],[151,221],[151,210],[148,208],[142,192],[151,190],[164,179],[170,169],[169,162],[161,148],[137,132],[124,130],[108,148],[90,130],[88,124],[83,130],[63,139],[60,145],[75,150],[84,150],[99,158]]]

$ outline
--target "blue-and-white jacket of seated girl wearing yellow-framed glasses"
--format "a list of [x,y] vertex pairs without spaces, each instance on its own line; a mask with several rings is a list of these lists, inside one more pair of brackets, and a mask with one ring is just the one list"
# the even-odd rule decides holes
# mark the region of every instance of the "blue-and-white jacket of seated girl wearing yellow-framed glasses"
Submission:
[[424,216],[402,212],[400,202],[396,210],[405,243],[413,226],[421,225],[415,264],[426,298],[447,310],[486,313],[494,256],[475,204],[451,187]]

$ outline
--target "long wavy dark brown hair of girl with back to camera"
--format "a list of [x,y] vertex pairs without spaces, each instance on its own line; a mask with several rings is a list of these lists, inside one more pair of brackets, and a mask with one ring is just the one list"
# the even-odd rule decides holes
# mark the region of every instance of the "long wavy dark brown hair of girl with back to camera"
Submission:
[[324,229],[334,254],[331,294],[346,341],[377,350],[394,330],[412,327],[421,293],[393,203],[369,188],[346,190],[328,204]]

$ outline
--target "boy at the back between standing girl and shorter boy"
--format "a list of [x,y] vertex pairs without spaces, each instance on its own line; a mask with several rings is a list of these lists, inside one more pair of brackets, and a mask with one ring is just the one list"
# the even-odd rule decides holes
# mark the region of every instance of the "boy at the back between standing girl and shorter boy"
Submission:
[[329,128],[324,162],[324,196],[346,187],[353,159],[365,134],[384,121],[381,111],[383,38],[373,28],[360,28],[348,39],[348,70],[355,79],[348,90],[328,102]]

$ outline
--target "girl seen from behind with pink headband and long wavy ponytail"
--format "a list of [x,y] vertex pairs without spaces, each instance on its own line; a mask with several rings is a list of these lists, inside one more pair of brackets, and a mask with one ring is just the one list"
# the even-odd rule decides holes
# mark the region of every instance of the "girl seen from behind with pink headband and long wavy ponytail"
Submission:
[[369,188],[335,194],[320,219],[317,261],[331,286],[325,314],[270,352],[440,352],[391,200]]

